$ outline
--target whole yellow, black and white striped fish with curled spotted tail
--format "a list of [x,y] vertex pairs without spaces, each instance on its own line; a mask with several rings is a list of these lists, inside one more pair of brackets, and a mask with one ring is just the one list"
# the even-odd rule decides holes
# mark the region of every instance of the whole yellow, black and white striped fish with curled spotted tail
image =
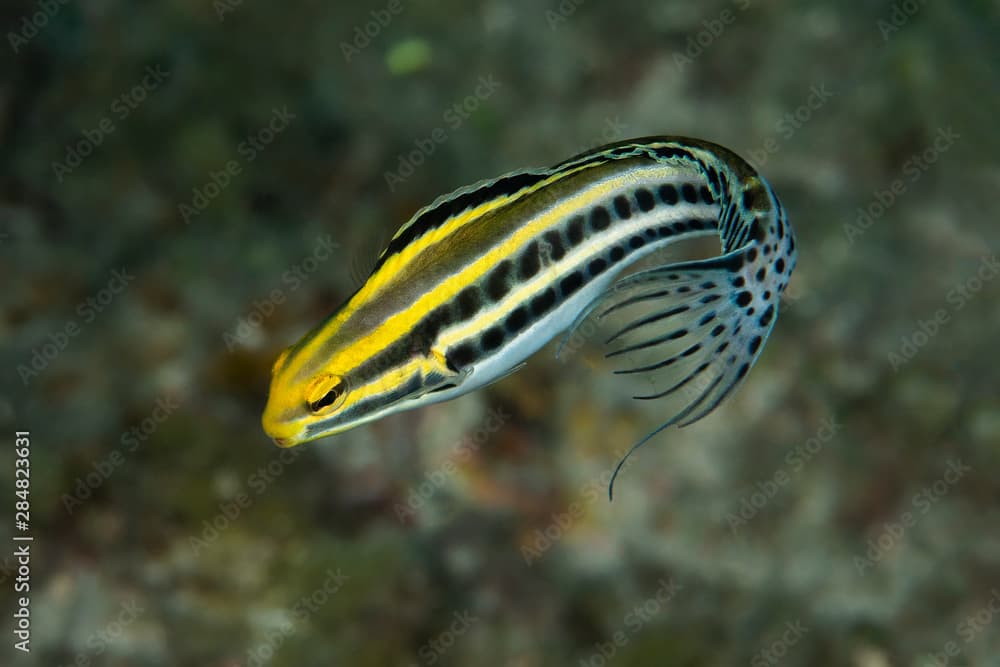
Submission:
[[[716,237],[718,253],[636,266],[698,237]],[[647,362],[615,373],[666,377],[669,387],[637,399],[683,400],[631,454],[740,385],[796,261],[774,189],[708,141],[629,139],[481,181],[417,211],[357,291],[278,356],[263,429],[292,447],[447,401],[513,373],[560,334],[565,344],[588,318],[633,313],[604,341],[606,356]]]

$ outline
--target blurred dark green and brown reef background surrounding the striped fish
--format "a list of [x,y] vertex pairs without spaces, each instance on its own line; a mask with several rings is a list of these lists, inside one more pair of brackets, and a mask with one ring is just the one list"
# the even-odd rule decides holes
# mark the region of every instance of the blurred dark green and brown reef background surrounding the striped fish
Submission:
[[[10,0],[4,665],[1000,665],[995,2]],[[723,144],[799,262],[657,425],[598,340],[289,450],[277,354],[420,206]],[[15,432],[30,431],[30,653]]]

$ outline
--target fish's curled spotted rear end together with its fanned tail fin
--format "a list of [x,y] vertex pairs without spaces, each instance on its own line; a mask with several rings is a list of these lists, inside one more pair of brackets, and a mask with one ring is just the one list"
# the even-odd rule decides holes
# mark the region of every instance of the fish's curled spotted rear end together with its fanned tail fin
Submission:
[[[625,147],[617,150],[624,154]],[[634,398],[672,400],[665,421],[619,462],[609,497],[635,449],[669,426],[706,416],[746,377],[774,326],[796,261],[784,207],[741,158],[696,140],[641,150],[698,165],[720,203],[723,254],[628,275],[588,311],[598,321],[617,323],[609,327],[606,357],[620,362],[615,374],[635,378],[641,387],[648,383]]]

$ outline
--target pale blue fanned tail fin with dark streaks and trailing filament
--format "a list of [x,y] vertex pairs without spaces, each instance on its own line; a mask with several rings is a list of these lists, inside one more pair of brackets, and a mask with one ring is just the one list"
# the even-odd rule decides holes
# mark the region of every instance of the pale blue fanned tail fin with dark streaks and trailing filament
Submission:
[[760,356],[777,315],[777,295],[755,293],[744,275],[746,253],[632,274],[591,310],[602,324],[617,321],[605,341],[605,356],[623,362],[614,373],[648,382],[634,398],[668,401],[667,419],[619,462],[609,498],[633,451],[669,426],[687,426],[709,414]]

